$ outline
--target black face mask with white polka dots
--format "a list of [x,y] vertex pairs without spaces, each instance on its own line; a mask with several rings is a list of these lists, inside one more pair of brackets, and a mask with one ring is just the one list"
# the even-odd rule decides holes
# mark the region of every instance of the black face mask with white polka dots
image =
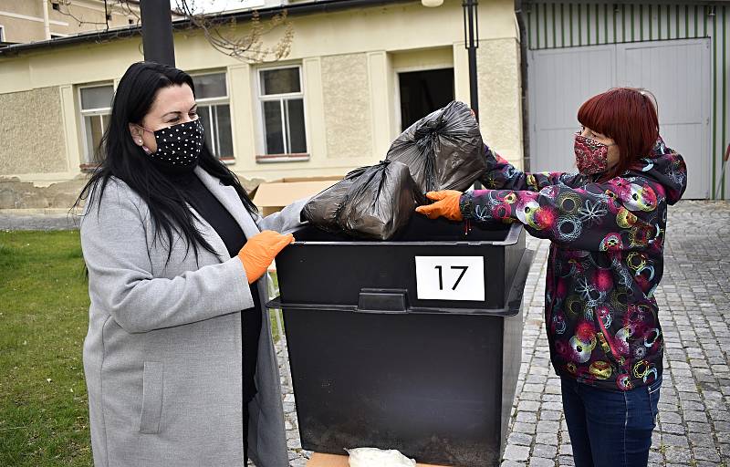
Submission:
[[[140,127],[147,130],[144,127]],[[203,124],[200,119],[187,121],[170,128],[151,131],[157,142],[157,150],[152,152],[147,146],[142,146],[152,161],[172,168],[193,167],[198,162],[200,150],[203,147]]]

